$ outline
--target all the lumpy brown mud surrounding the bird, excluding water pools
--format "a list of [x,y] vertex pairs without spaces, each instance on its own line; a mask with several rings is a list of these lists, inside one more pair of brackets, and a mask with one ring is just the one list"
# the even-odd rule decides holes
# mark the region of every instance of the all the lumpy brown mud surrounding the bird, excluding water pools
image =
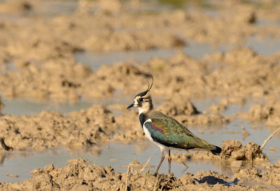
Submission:
[[[56,2],[56,1],[53,1]],[[59,1],[58,1],[59,2]],[[261,123],[273,132],[280,124],[280,52],[262,55],[246,46],[250,37],[279,41],[278,1],[198,1],[187,8],[156,8],[141,1],[80,0],[73,8],[51,12],[44,1],[0,2],[1,97],[61,103],[84,99],[126,97],[147,88],[149,73],[155,79],[151,94],[162,100],[156,107],[184,125],[227,125],[232,120]],[[198,2],[198,3],[197,3]],[[204,2],[204,1],[202,1]],[[62,2],[60,2],[62,3]],[[69,3],[69,2],[63,2]],[[204,2],[205,3],[205,2]],[[153,8],[151,8],[153,7]],[[183,8],[182,8],[183,7]],[[207,8],[205,8],[207,7]],[[230,46],[195,59],[183,48],[188,41],[213,48]],[[144,64],[119,62],[96,71],[76,61],[77,52],[172,49],[168,59],[154,57]],[[36,115],[7,115],[0,97],[0,152],[97,147],[99,143],[146,140],[137,111],[127,105],[92,105],[82,111]],[[205,111],[190,99],[221,98]],[[232,104],[252,101],[248,111],[225,115]],[[113,113],[113,110],[118,113]],[[244,128],[243,128],[244,129]],[[243,130],[246,136],[246,130]],[[247,132],[248,134],[248,132]],[[221,134],[223,136],[223,134]],[[275,135],[279,137],[279,134]],[[263,138],[264,140],[266,137]],[[272,164],[260,146],[236,140],[223,142],[221,156],[209,153],[174,154],[186,158],[232,162],[232,177],[215,171],[199,171],[182,177],[139,173],[130,165],[121,174],[86,159],[69,161],[66,167],[35,169],[20,183],[0,183],[1,190],[278,190],[280,162]],[[241,161],[252,161],[242,167]],[[261,165],[256,165],[257,163]],[[139,164],[140,166],[142,164]],[[142,165],[143,166],[143,165]],[[141,167],[142,167],[141,166]],[[262,166],[265,170],[258,168]],[[13,176],[13,175],[10,175]]]

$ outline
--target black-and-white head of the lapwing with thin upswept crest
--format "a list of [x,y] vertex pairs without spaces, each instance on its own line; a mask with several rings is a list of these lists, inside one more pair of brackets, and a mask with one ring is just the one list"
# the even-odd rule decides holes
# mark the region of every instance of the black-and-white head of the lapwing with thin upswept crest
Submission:
[[[151,76],[151,78],[153,80],[153,76]],[[151,86],[150,83],[148,83],[148,89],[145,92],[141,92],[134,97],[133,103],[130,104],[130,106],[128,106],[127,109],[132,107],[138,107],[139,115],[141,113],[146,113],[148,111],[151,111],[153,109],[153,102],[149,91],[151,90],[152,86],[153,86],[153,81]]]

